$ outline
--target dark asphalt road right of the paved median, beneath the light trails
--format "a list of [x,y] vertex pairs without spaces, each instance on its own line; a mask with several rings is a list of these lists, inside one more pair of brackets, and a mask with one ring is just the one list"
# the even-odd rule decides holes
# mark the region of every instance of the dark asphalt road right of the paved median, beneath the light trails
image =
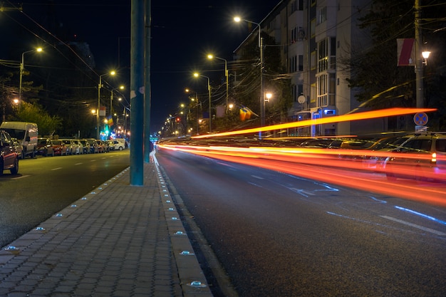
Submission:
[[239,296],[446,296],[444,207],[156,156]]

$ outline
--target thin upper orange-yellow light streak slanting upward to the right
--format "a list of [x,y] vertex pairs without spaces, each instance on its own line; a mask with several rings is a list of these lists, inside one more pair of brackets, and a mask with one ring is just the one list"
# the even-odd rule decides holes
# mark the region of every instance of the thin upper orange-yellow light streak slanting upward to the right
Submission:
[[249,134],[249,133],[255,133],[255,132],[288,129],[288,128],[294,128],[294,127],[305,127],[305,126],[311,126],[311,125],[347,122],[347,121],[351,121],[351,120],[367,120],[367,119],[372,119],[372,118],[390,117],[390,116],[394,116],[394,115],[409,115],[409,114],[415,114],[415,113],[428,113],[428,112],[432,112],[435,110],[436,110],[435,108],[388,108],[388,109],[383,109],[383,110],[365,111],[363,113],[351,113],[351,114],[347,114],[347,115],[336,115],[336,116],[328,117],[328,118],[318,118],[316,120],[301,120],[301,121],[297,121],[297,122],[293,122],[293,123],[270,125],[270,126],[265,126],[265,127],[256,127],[256,128],[251,128],[251,129],[245,129],[245,130],[221,132],[221,133],[215,133],[215,134],[209,134],[209,135],[197,135],[197,136],[192,136],[192,138],[199,139],[199,138],[208,138],[208,137],[241,135],[241,134]]

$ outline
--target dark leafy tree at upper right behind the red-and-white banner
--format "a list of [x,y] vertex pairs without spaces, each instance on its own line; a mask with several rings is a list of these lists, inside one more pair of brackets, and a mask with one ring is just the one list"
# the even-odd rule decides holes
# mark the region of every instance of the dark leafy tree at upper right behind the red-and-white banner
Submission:
[[[421,1],[427,2],[427,1]],[[356,98],[368,108],[415,106],[415,69],[413,66],[397,65],[397,38],[414,38],[414,2],[405,0],[374,0],[360,28],[370,33],[370,47],[356,48],[351,53],[351,88],[356,88]],[[435,125],[441,128],[438,119],[444,114],[446,46],[444,4],[436,1],[421,6],[420,26],[425,36],[423,46],[431,48],[432,58],[425,66],[425,98],[427,107],[439,108]],[[435,52],[434,52],[435,51]],[[432,60],[432,61],[431,61]]]

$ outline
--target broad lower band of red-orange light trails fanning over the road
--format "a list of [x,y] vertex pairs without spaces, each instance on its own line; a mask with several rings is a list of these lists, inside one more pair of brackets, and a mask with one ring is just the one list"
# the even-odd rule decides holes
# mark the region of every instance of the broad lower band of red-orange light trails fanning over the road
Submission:
[[[363,166],[361,156],[400,157],[400,153],[303,147],[217,147],[193,145],[160,145],[160,149],[188,152],[341,186],[446,206],[445,184],[439,184],[435,187],[420,187],[413,182],[388,182],[385,177],[380,177],[379,180],[370,179],[371,171],[385,173],[385,170],[367,170]],[[404,154],[404,157],[420,158],[410,154]],[[407,170],[407,168],[393,167],[393,170],[401,173]],[[445,174],[427,177],[436,177],[446,181]]]

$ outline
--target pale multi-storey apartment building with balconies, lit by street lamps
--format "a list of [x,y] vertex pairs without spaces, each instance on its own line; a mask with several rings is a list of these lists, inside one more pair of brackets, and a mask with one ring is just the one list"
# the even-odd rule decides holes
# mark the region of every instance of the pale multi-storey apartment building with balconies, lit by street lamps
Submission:
[[[352,55],[368,46],[358,28],[365,0],[282,0],[259,23],[262,33],[281,48],[281,63],[291,79],[293,106],[288,118],[308,120],[351,113],[358,108],[355,90],[348,87]],[[253,31],[245,39],[256,38]],[[243,43],[234,53],[240,51]],[[267,54],[267,51],[266,51]],[[313,125],[292,135],[352,135],[381,132],[384,120]]]

